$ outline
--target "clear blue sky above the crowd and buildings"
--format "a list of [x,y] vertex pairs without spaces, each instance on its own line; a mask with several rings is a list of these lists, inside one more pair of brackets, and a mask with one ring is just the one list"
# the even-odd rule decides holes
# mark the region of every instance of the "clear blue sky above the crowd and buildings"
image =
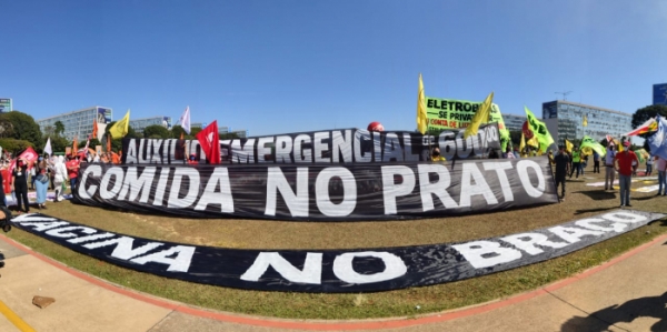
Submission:
[[667,1],[0,0],[0,97],[251,135],[416,128],[426,95],[504,113],[561,99],[635,112],[667,82]]

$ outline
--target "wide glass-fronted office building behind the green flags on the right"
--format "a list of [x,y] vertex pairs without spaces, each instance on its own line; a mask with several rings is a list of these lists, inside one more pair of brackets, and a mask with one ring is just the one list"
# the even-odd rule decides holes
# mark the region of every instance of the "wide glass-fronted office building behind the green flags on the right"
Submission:
[[[619,139],[633,130],[633,115],[594,105],[556,100],[542,103],[542,119],[557,144],[588,135],[596,141],[607,134]],[[587,125],[585,127],[585,121]]]

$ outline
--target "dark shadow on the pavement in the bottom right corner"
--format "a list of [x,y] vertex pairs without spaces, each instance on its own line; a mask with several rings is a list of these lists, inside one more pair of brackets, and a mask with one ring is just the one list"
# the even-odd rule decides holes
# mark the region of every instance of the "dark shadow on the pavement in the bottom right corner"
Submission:
[[[617,323],[631,323],[639,318],[658,319],[650,331],[667,331],[667,292],[658,296],[629,300],[598,310],[588,316],[574,316],[560,326],[560,331],[609,331]],[[618,328],[618,326],[617,326]]]

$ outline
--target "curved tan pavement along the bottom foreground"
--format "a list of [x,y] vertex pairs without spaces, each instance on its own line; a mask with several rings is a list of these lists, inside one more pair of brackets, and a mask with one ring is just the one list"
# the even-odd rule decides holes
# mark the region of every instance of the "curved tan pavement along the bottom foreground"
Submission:
[[[581,274],[505,300],[417,319],[329,322],[212,312],[157,299],[0,235],[6,262],[0,301],[36,331],[667,331],[666,241],[659,237]],[[34,295],[56,302],[39,309]],[[21,331],[7,310],[0,313],[0,331]]]

